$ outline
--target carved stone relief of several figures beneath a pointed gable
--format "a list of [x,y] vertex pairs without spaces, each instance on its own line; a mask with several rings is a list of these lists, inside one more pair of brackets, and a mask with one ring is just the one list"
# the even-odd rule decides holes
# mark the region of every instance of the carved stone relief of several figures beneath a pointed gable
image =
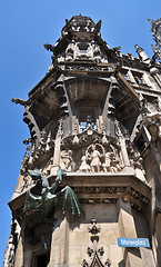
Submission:
[[122,169],[118,141],[89,127],[82,134],[64,138],[61,147],[60,167],[67,171],[115,172]]

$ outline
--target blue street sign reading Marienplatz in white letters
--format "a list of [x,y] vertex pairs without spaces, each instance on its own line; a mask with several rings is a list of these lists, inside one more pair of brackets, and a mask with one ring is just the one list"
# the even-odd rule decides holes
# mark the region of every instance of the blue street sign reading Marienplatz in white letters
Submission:
[[119,247],[150,247],[148,238],[118,238]]

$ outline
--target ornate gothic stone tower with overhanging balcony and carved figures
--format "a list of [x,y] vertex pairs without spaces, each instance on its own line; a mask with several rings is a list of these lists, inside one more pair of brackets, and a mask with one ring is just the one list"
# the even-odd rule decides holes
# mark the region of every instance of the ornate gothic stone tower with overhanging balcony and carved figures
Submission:
[[161,266],[161,20],[151,23],[152,59],[139,46],[137,58],[109,48],[101,21],[81,14],[44,44],[48,73],[28,100],[12,99],[31,136],[4,267]]

